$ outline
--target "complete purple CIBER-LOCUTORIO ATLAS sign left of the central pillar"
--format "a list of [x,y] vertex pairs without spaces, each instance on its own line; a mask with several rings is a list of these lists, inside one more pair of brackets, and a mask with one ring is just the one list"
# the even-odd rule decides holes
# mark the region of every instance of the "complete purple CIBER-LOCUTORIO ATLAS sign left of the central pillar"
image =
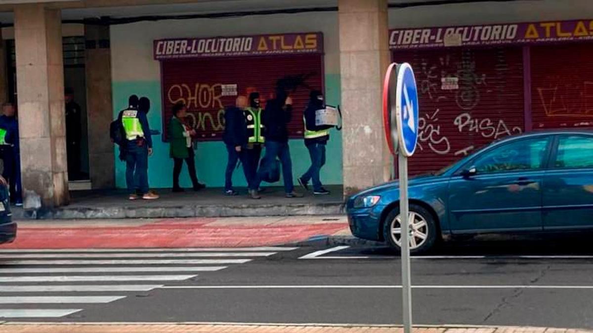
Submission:
[[295,55],[323,53],[323,34],[267,34],[237,37],[161,39],[154,41],[154,59]]

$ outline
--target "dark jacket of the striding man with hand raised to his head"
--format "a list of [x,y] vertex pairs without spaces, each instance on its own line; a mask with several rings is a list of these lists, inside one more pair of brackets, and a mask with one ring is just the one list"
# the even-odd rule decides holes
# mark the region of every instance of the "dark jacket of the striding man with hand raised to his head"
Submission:
[[266,141],[288,142],[286,124],[290,123],[291,119],[292,105],[285,105],[283,98],[267,101],[266,110],[263,111],[262,116]]

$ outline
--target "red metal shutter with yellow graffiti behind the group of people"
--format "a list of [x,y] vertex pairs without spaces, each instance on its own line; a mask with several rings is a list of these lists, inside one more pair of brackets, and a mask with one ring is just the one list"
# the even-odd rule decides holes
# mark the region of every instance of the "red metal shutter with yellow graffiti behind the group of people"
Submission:
[[164,139],[177,101],[188,106],[197,140],[221,140],[224,107],[235,104],[237,95],[223,96],[221,85],[237,85],[237,94],[248,97],[259,91],[262,107],[273,97],[278,80],[291,86],[294,114],[288,126],[291,137],[302,137],[302,111],[311,89],[323,91],[323,55],[225,57],[165,60],[162,71]]

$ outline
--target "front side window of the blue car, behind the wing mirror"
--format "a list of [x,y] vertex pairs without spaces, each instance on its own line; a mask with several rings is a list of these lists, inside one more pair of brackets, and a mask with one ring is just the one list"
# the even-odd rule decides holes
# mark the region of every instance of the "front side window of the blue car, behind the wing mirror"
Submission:
[[549,137],[535,137],[498,146],[479,156],[472,165],[478,174],[540,169],[549,140]]

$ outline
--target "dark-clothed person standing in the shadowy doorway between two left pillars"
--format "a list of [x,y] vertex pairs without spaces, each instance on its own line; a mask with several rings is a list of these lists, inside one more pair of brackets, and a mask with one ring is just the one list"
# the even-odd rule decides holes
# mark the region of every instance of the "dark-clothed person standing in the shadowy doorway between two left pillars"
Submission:
[[68,178],[80,178],[80,148],[81,148],[81,108],[74,101],[74,90],[66,88],[64,92],[66,103],[66,156],[68,159]]

